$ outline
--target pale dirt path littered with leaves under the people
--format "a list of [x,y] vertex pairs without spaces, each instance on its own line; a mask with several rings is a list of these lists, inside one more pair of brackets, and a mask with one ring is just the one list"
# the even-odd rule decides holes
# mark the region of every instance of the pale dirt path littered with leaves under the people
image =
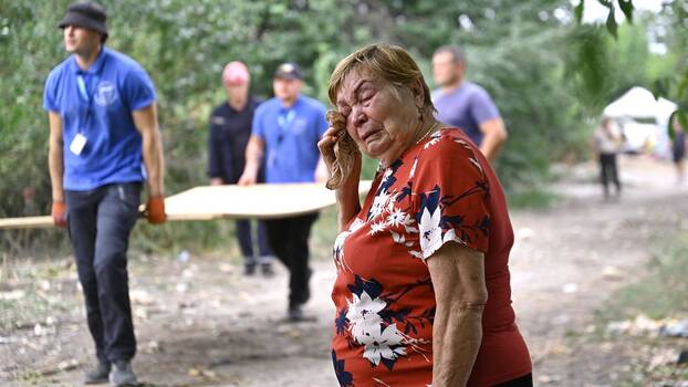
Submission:
[[[617,201],[600,198],[590,181],[592,167],[555,187],[566,196],[555,208],[512,213],[514,306],[538,385],[613,384],[609,369],[623,366],[625,355],[571,346],[566,337],[590,331],[595,308],[609,292],[642,274],[649,239],[688,213],[688,200],[682,200],[688,189],[674,184],[668,165],[624,159],[627,185]],[[80,385],[93,355],[70,262],[6,264],[0,306],[14,310],[7,310],[0,326],[11,320],[14,327],[0,328],[0,385]],[[314,268],[307,311],[316,321],[288,324],[281,320],[286,289],[281,270],[272,279],[243,278],[218,259],[135,258],[131,287],[139,341],[135,368],[142,381],[336,385],[329,349],[335,273],[325,257]]]

